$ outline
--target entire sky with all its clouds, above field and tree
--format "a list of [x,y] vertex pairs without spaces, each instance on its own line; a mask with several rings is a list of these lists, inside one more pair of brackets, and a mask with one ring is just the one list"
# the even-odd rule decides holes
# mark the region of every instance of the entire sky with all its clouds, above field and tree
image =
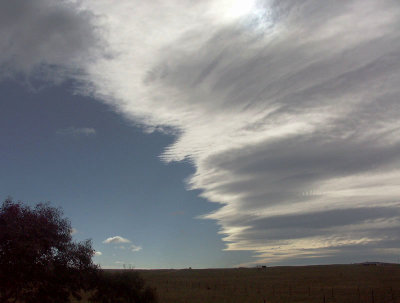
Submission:
[[398,262],[397,0],[0,0],[0,195],[104,268]]

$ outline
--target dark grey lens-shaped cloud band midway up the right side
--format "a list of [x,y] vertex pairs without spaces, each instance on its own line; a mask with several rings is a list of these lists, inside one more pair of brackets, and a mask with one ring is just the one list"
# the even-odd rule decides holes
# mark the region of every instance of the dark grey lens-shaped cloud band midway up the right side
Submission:
[[316,134],[312,138],[265,142],[248,149],[222,153],[210,158],[208,165],[235,174],[259,177],[265,177],[265,173],[288,177],[300,171],[309,180],[312,175],[320,178],[362,172],[390,164],[400,155],[398,144],[380,146],[378,140],[357,142],[352,139],[329,140]]

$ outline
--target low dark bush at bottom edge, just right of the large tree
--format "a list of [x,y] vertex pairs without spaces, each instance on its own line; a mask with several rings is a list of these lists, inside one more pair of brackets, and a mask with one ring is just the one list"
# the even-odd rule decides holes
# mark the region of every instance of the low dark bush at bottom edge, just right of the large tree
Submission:
[[101,271],[91,300],[98,303],[155,303],[156,292],[145,287],[134,270]]

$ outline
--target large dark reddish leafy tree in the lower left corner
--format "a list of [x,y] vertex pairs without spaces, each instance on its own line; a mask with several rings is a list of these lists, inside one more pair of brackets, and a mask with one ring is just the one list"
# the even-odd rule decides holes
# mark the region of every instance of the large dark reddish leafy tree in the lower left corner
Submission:
[[7,199],[0,208],[0,302],[69,302],[93,288],[90,240],[73,242],[71,224],[49,204]]

